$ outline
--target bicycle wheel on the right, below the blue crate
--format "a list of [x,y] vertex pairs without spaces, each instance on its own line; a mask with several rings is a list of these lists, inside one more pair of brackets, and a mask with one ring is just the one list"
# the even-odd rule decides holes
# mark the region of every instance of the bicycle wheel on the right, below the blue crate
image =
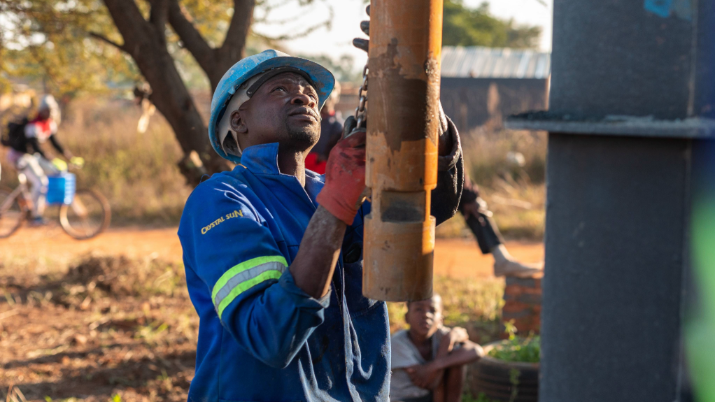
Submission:
[[109,202],[94,190],[77,190],[72,203],[59,208],[59,224],[77,240],[102,233],[111,219]]

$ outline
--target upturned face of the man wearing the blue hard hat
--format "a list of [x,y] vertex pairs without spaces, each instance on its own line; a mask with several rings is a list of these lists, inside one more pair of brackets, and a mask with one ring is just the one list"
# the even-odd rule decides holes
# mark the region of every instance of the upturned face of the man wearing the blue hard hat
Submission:
[[299,74],[265,82],[231,115],[242,148],[277,142],[282,151],[308,151],[320,138],[317,92]]

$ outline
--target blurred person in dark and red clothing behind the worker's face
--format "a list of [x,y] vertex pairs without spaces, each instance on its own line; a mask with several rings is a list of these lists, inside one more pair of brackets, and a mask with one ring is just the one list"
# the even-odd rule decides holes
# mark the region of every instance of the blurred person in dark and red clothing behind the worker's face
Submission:
[[325,174],[327,156],[342,136],[342,119],[340,112],[335,111],[338,101],[340,101],[340,84],[335,81],[335,89],[332,90],[330,98],[325,101],[325,106],[320,109],[320,139],[305,158],[305,169],[310,169],[317,174]]

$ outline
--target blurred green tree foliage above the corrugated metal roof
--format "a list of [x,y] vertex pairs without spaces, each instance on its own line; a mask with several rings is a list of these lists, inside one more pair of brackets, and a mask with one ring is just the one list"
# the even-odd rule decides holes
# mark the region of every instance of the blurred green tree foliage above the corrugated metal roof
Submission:
[[513,20],[495,18],[489,4],[469,9],[461,0],[445,0],[442,44],[445,46],[488,46],[533,49],[541,27],[517,26]]

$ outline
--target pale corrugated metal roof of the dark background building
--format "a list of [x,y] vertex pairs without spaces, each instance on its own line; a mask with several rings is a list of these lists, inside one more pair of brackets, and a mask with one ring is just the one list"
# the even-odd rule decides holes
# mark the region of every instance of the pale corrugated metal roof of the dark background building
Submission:
[[443,77],[546,79],[549,74],[549,53],[482,46],[442,47]]

